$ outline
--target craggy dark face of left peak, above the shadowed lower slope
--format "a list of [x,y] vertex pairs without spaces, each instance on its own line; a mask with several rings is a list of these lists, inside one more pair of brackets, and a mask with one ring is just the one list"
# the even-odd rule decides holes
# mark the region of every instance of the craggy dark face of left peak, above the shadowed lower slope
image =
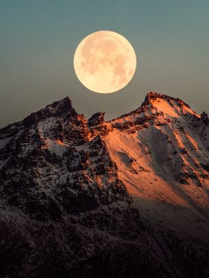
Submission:
[[116,201],[130,203],[105,142],[90,140],[84,115],[66,98],[0,130],[3,204],[60,218]]

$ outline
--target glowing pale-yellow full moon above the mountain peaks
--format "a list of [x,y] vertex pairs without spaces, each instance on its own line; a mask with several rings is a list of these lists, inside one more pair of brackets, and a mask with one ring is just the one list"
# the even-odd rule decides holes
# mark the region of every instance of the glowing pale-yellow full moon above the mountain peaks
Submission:
[[84,38],[75,51],[79,81],[93,92],[108,94],[124,88],[136,70],[130,42],[114,31],[97,31]]

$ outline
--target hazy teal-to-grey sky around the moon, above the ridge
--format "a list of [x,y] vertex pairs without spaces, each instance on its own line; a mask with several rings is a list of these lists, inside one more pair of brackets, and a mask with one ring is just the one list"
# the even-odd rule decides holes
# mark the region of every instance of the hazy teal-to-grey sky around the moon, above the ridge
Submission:
[[[0,127],[68,96],[79,114],[106,120],[140,106],[147,92],[209,113],[208,0],[0,0]],[[130,41],[136,73],[125,88],[98,94],[77,79],[79,42],[99,30]]]

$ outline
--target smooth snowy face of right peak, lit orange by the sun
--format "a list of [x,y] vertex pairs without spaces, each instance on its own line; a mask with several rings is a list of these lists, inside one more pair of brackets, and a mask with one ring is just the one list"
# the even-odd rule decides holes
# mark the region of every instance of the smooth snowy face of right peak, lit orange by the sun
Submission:
[[119,179],[152,220],[209,234],[209,126],[180,99],[150,92],[140,108],[106,123]]

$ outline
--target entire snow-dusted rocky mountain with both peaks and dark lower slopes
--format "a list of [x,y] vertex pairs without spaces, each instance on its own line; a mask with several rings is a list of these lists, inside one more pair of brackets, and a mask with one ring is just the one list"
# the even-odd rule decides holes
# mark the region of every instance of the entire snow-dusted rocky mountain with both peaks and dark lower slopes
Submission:
[[209,277],[209,125],[150,92],[112,121],[69,98],[0,129],[1,277]]

